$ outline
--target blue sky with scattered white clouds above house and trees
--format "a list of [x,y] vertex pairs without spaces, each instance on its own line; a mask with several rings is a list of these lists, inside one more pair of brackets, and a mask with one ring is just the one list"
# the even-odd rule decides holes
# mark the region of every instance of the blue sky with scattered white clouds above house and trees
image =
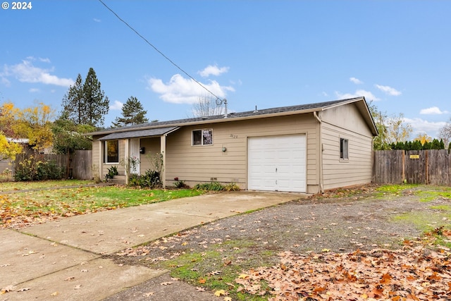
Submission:
[[[450,121],[451,1],[112,1],[105,4],[230,111],[364,96],[436,137]],[[94,68],[105,126],[137,97],[149,120],[209,93],[100,1],[0,9],[0,102],[50,104]]]

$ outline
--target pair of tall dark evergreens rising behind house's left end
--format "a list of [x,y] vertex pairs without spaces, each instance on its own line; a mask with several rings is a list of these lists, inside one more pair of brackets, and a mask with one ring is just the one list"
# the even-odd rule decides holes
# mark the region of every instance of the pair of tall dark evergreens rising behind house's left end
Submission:
[[[75,124],[99,126],[109,111],[109,99],[101,90],[93,68],[89,68],[85,82],[79,74],[75,84],[69,87],[63,98],[63,114]],[[62,114],[62,115],[63,115]]]

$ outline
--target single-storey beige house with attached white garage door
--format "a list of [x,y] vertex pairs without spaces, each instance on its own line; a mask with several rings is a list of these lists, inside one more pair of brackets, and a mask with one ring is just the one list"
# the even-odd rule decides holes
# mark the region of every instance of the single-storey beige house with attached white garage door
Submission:
[[256,109],[113,128],[92,135],[100,178],[121,160],[140,158],[138,173],[163,158],[163,185],[218,181],[245,190],[318,193],[371,183],[373,137],[378,135],[364,97]]

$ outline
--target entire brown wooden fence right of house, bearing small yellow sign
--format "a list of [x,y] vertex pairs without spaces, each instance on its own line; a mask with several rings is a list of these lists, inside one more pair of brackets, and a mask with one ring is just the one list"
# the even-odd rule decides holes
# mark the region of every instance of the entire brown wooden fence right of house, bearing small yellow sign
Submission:
[[451,154],[446,149],[373,152],[373,183],[451,186]]

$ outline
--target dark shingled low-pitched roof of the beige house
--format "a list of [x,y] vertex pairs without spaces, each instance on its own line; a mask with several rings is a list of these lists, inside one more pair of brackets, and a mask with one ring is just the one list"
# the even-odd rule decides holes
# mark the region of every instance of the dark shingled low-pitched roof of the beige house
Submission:
[[[157,121],[151,123],[142,123],[139,125],[128,125],[122,128],[109,128],[106,130],[99,130],[94,133],[87,133],[86,135],[108,135],[102,137],[101,140],[110,140],[110,139],[118,139],[113,133],[123,133],[120,137],[125,138],[125,133],[130,132],[129,135],[136,136],[126,136],[126,137],[145,137],[148,135],[144,135],[144,130],[157,130],[157,129],[167,129],[167,128],[175,128],[183,125],[197,125],[204,123],[218,123],[218,122],[230,122],[236,121],[240,119],[251,119],[251,118],[266,118],[273,116],[285,116],[285,115],[294,115],[299,113],[309,113],[314,111],[323,111],[326,109],[331,109],[335,106],[342,106],[344,104],[352,104],[355,103],[360,113],[364,117],[367,125],[371,129],[371,133],[374,136],[378,135],[376,125],[374,124],[373,118],[371,117],[371,113],[369,111],[369,107],[366,104],[364,97],[357,97],[352,99],[340,99],[334,100],[330,102],[318,102],[314,104],[299,104],[297,106],[280,106],[271,109],[256,109],[254,111],[245,111],[239,113],[228,113],[225,117],[223,114],[216,116],[207,116],[207,117],[195,117],[195,118],[185,118],[178,119],[173,121]],[[138,135],[139,132],[139,135]],[[165,133],[156,134],[157,131],[149,132],[152,136],[164,135]],[[107,138],[108,137],[108,138]]]

